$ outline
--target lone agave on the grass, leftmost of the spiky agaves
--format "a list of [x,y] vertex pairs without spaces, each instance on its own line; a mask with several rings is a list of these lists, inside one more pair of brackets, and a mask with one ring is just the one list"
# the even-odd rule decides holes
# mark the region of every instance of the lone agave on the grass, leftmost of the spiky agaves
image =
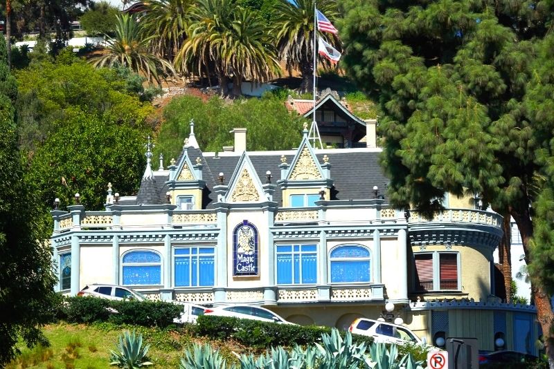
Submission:
[[109,365],[116,365],[125,369],[152,365],[146,356],[149,349],[150,345],[143,346],[142,334],[137,335],[134,331],[131,334],[127,330],[119,337],[117,351],[110,350],[111,363]]

